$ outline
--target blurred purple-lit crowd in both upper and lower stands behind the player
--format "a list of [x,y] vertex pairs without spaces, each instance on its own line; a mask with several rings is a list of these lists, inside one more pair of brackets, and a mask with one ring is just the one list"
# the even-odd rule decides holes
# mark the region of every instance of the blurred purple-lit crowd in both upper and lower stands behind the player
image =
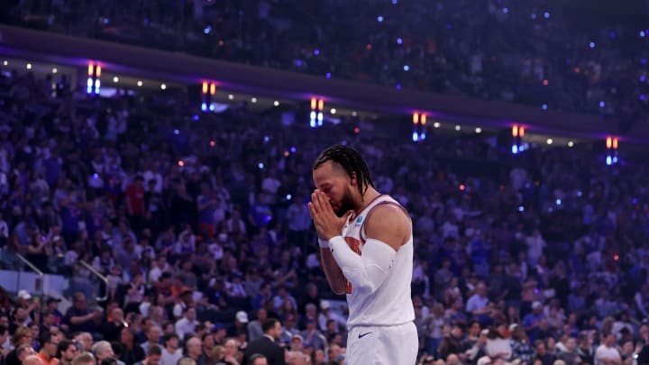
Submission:
[[[639,30],[586,37],[543,2],[465,3],[394,0],[370,15],[338,1],[24,1],[4,16],[322,77],[645,115]],[[358,118],[311,129],[286,110],[93,98],[2,70],[0,265],[26,269],[22,255],[69,278],[62,303],[0,291],[3,365],[33,353],[80,365],[84,351],[102,365],[245,364],[264,333],[289,364],[342,364],[346,306],[306,208],[311,164],[334,143],[359,149],[412,216],[420,363],[649,364],[643,154],[608,166],[588,143],[517,155],[478,134],[412,143],[352,131]]]

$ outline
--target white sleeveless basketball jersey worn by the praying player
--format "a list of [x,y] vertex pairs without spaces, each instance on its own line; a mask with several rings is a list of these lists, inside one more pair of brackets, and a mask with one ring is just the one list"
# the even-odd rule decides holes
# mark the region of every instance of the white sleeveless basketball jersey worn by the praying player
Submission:
[[[365,221],[370,211],[377,205],[394,204],[403,208],[390,196],[377,196],[358,214],[352,214],[343,227],[343,237],[352,251],[362,254],[365,240]],[[405,209],[404,209],[405,212]],[[415,320],[415,308],[410,297],[410,283],[413,273],[413,235],[410,224],[410,238],[397,251],[394,264],[388,271],[388,277],[373,293],[354,291],[352,284],[347,281],[346,293],[349,306],[347,327],[355,326],[386,326],[407,324]]]

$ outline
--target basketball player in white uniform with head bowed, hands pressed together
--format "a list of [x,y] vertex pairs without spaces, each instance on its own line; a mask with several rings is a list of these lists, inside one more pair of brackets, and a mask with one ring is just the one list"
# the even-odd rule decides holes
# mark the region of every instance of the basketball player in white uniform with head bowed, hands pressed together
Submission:
[[416,363],[412,222],[374,188],[367,162],[349,147],[323,151],[313,167],[309,211],[324,274],[347,295],[345,365]]

